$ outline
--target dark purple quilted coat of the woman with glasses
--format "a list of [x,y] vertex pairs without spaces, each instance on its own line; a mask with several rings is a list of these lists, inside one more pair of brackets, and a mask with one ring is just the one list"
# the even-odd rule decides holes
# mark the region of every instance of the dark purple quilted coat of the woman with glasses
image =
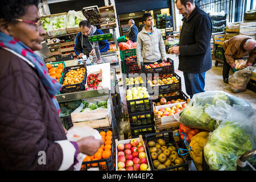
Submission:
[[67,137],[56,107],[30,65],[1,48],[0,57],[0,169],[58,170],[63,151],[55,141]]

